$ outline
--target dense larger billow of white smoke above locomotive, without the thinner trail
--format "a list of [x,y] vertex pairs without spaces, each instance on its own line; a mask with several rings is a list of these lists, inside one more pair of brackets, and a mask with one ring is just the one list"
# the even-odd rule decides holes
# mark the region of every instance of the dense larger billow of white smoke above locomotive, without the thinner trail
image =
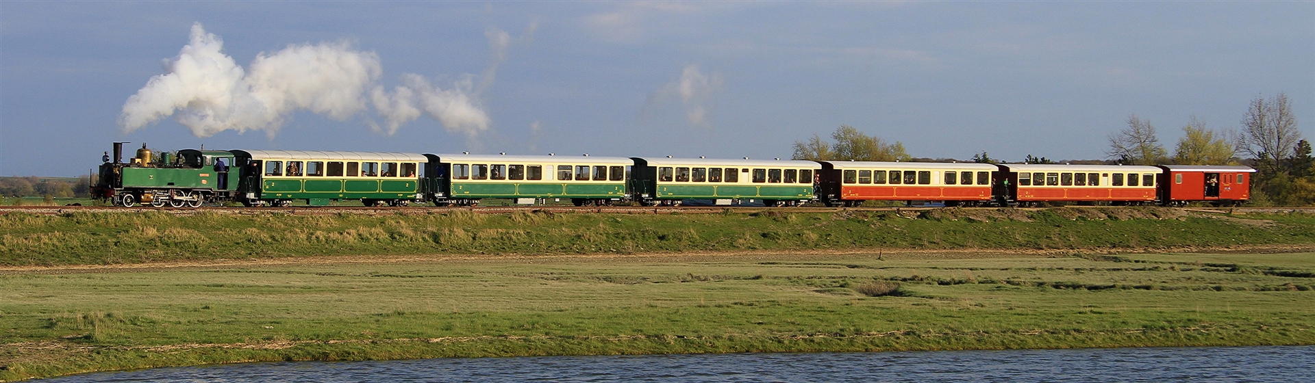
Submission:
[[345,121],[366,109],[364,89],[379,77],[379,56],[346,43],[291,45],[259,54],[250,71],[224,54],[224,41],[192,25],[191,43],[164,62],[167,73],[124,104],[120,126],[132,132],[178,113],[196,136],[264,130],[304,109]]

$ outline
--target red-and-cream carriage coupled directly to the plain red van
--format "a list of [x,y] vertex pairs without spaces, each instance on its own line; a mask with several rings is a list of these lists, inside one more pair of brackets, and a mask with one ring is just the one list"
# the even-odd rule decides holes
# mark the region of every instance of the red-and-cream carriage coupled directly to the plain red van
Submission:
[[998,198],[1022,206],[1063,201],[1143,205],[1157,201],[1156,167],[999,164]]

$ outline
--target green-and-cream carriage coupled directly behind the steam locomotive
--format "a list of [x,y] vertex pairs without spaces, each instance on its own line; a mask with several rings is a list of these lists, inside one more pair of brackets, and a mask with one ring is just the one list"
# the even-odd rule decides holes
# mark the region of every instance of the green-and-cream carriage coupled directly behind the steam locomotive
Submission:
[[423,202],[419,184],[427,161],[419,153],[333,151],[231,151],[242,178],[237,199],[246,206],[310,206],[360,199],[366,206]]

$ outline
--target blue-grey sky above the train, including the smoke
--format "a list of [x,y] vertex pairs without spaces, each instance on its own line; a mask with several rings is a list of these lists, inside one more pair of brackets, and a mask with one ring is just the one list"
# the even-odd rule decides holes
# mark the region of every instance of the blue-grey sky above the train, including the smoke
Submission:
[[110,143],[786,159],[840,125],[915,157],[1172,152],[1283,92],[1312,1],[0,1],[0,176]]

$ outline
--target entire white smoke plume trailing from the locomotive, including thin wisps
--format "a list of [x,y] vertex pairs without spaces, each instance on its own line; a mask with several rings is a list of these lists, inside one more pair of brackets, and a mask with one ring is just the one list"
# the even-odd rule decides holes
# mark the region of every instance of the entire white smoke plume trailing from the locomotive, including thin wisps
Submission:
[[[531,24],[522,39],[535,28]],[[383,71],[373,52],[355,51],[347,43],[289,45],[274,54],[259,54],[243,70],[224,54],[220,37],[195,24],[191,42],[178,56],[164,60],[164,75],[151,77],[128,98],[118,123],[124,132],[132,132],[176,114],[178,122],[196,136],[225,130],[263,130],[274,136],[297,110],[346,121],[373,106],[384,126],[366,122],[377,132],[392,135],[423,114],[448,131],[473,138],[492,121],[480,108],[479,92],[492,84],[512,42],[505,33],[492,31],[500,30],[487,33],[493,63],[479,89],[469,75],[443,89],[423,76],[405,73],[402,84],[388,92],[377,85]]]

